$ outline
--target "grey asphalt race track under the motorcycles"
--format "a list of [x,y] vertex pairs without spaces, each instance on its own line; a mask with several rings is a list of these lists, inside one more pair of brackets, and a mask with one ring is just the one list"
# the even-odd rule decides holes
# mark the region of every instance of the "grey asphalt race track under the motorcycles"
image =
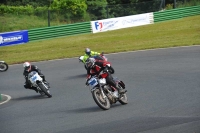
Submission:
[[23,88],[22,64],[0,73],[1,133],[200,133],[200,46],[106,55],[129,103],[103,111],[78,58],[32,63],[52,98]]

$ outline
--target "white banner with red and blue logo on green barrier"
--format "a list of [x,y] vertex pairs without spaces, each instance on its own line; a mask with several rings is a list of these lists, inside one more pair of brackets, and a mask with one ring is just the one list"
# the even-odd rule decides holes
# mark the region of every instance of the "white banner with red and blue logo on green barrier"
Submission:
[[153,13],[91,21],[92,32],[104,32],[153,23]]

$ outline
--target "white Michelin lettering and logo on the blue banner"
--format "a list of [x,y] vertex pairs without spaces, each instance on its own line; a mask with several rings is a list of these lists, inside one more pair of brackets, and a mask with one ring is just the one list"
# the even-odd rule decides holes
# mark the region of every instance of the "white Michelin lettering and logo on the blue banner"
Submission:
[[23,40],[23,36],[22,35],[8,36],[8,37],[0,36],[0,44],[6,43],[6,42],[21,41],[21,40]]

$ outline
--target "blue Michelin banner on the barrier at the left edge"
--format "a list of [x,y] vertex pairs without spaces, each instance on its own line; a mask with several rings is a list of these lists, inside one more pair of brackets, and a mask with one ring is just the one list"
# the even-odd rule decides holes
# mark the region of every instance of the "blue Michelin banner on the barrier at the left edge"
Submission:
[[28,31],[14,31],[0,33],[0,46],[22,44],[28,42]]

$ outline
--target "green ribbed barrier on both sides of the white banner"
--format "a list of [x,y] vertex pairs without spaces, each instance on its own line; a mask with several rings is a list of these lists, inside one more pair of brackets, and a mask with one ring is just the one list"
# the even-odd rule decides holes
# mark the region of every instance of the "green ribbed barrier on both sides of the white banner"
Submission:
[[[187,16],[200,15],[200,5],[190,6],[184,8],[177,8],[172,10],[165,10],[162,12],[154,12],[153,22],[161,22],[166,20],[173,20]],[[91,33],[91,23],[82,22],[61,26],[51,26],[44,28],[37,28],[28,30],[29,41],[37,41],[42,39],[49,39],[61,36],[70,36],[76,34]]]

